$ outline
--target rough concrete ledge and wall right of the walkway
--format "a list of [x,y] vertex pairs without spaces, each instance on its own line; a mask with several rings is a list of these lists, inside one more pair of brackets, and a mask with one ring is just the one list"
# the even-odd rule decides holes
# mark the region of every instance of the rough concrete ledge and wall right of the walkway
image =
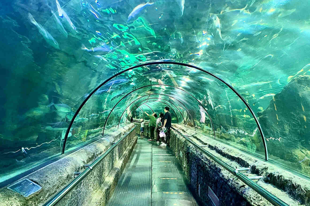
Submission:
[[[183,134],[192,135],[190,137],[192,141],[198,145],[204,145],[204,149],[230,166],[250,167],[251,171],[246,173],[247,176],[264,176],[257,183],[286,203],[290,205],[310,204],[310,182],[308,180],[216,141],[214,137],[210,138],[206,134],[195,132],[192,128],[181,125],[174,125],[174,127],[180,129],[179,131]],[[207,195],[208,186],[219,198],[220,205],[271,205],[261,195],[201,153],[199,149],[173,130],[170,146],[190,181],[193,193],[197,194],[202,205],[212,205]],[[279,186],[281,183],[270,184],[276,182],[273,178],[282,179],[282,187]],[[290,189],[292,187],[296,189],[293,191]]]

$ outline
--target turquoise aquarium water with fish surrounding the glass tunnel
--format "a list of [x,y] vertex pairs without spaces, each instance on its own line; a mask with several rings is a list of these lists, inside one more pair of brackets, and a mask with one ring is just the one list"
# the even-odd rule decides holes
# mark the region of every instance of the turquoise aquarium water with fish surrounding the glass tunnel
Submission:
[[[269,160],[310,176],[309,2],[152,3],[3,2],[0,182],[59,155],[74,113],[106,79],[168,60],[232,85],[259,118]],[[215,139],[265,158],[241,99],[205,72],[171,64],[129,70],[97,90],[75,118],[65,151],[99,137],[111,111],[107,132],[166,105],[173,123],[210,136],[214,128]]]

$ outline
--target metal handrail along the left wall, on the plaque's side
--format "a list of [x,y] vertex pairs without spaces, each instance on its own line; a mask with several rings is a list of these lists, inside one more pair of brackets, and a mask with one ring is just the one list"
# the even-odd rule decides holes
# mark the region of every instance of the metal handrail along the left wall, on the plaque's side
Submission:
[[62,198],[64,198],[65,195],[67,195],[74,187],[78,185],[86,176],[88,173],[91,172],[92,169],[94,169],[95,166],[97,166],[113,149],[121,143],[125,137],[127,137],[135,128],[137,125],[135,125],[130,132],[128,132],[124,137],[119,139],[115,144],[112,145],[103,155],[101,155],[99,158],[97,158],[91,165],[89,165],[81,174],[79,174],[75,179],[73,179],[66,187],[64,187],[60,192],[58,192],[53,198],[48,200],[43,206],[54,206],[56,205]]

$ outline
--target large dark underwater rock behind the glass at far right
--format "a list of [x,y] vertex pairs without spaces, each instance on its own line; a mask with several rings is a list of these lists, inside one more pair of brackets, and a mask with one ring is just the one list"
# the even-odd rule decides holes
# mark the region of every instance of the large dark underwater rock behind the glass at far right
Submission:
[[294,163],[309,153],[309,96],[310,76],[299,75],[274,96],[264,111],[258,112],[268,153]]

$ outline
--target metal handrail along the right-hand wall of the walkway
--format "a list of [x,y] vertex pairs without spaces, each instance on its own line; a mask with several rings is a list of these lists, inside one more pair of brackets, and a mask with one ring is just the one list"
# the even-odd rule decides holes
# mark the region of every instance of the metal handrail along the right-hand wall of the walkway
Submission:
[[228,170],[230,173],[235,175],[238,179],[240,179],[242,182],[244,182],[246,185],[251,187],[253,190],[255,190],[257,193],[262,195],[266,200],[268,200],[271,204],[276,205],[276,206],[289,206],[279,198],[277,198],[275,195],[272,195],[269,191],[264,189],[263,187],[259,186],[257,183],[255,183],[253,180],[248,178],[245,174],[242,172],[239,172],[238,170],[232,168],[229,166],[227,163],[223,162],[219,158],[215,157],[212,153],[206,151],[203,149],[201,146],[197,145],[195,142],[190,140],[188,137],[184,136],[181,132],[176,130],[175,128],[171,127],[174,129],[176,132],[178,132],[182,137],[184,137],[187,141],[189,141],[191,144],[193,144],[195,147],[197,147],[202,153],[206,154],[209,158],[214,160],[216,163],[218,163],[220,166],[224,167],[226,170]]

